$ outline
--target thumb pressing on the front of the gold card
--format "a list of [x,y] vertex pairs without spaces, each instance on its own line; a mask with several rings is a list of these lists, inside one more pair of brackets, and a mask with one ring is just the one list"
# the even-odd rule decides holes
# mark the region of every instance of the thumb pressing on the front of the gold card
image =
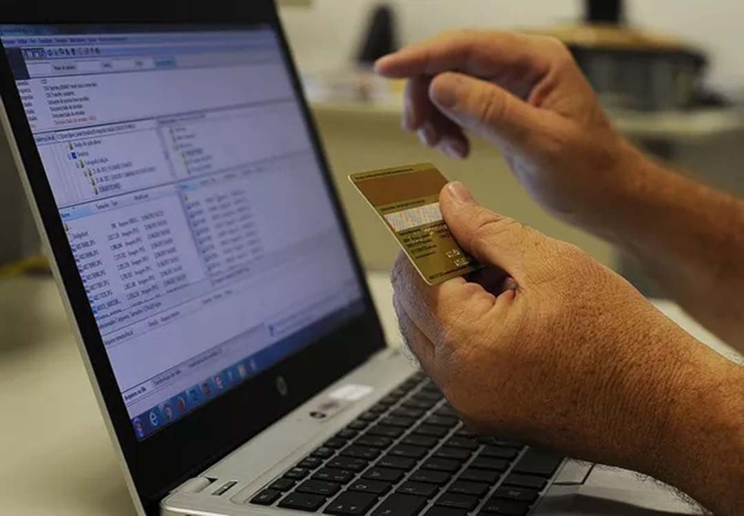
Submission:
[[442,189],[439,204],[444,222],[466,253],[501,268],[519,283],[525,248],[533,239],[530,228],[476,203],[460,181]]

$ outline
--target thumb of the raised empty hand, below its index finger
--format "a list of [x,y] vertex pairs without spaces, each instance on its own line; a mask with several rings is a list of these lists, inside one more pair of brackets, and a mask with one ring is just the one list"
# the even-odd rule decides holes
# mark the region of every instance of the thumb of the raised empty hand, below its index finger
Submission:
[[432,80],[429,97],[460,126],[496,143],[516,145],[539,126],[537,109],[486,80],[445,72]]

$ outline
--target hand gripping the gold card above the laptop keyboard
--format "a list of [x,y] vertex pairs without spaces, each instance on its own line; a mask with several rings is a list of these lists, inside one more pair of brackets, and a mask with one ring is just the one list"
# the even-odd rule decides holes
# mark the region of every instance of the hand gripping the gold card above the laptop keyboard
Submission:
[[394,303],[466,424],[663,478],[663,443],[690,410],[677,391],[705,376],[707,348],[583,251],[475,204],[461,184],[440,207],[485,268],[427,286],[399,257]]

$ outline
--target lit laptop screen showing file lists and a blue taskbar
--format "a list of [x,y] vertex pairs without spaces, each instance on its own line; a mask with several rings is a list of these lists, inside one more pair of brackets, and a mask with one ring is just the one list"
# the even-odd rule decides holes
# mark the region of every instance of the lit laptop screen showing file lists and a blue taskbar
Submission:
[[271,28],[1,30],[138,439],[362,312]]

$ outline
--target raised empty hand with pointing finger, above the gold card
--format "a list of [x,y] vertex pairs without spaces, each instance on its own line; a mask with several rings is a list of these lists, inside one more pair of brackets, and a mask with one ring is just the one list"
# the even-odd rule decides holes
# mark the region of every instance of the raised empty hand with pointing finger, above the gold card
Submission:
[[641,155],[601,109],[557,39],[491,31],[445,33],[379,59],[406,77],[403,126],[455,158],[469,152],[464,129],[501,148],[522,185],[575,224],[607,213]]

